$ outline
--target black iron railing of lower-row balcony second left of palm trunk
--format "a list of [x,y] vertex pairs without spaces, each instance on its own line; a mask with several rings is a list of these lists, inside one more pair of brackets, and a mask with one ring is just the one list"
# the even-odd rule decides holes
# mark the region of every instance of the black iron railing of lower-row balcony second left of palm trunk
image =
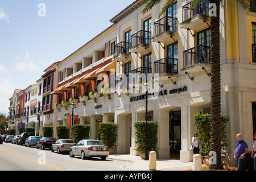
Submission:
[[170,74],[174,75],[178,73],[177,59],[171,57],[165,57],[154,62],[154,75]]

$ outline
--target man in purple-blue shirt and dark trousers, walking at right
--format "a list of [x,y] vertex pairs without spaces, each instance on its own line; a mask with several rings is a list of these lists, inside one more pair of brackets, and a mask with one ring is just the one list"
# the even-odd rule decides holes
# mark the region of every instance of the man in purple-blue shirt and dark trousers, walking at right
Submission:
[[237,160],[237,171],[245,171],[243,159],[245,159],[245,154],[249,151],[247,143],[243,141],[242,137],[241,133],[238,133],[236,136],[237,142],[234,150],[234,158]]

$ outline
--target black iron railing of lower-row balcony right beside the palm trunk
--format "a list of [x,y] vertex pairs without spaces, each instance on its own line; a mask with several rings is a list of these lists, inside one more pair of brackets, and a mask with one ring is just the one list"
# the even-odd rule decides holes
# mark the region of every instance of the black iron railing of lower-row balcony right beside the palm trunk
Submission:
[[183,52],[183,67],[191,67],[198,63],[210,64],[210,47],[196,46]]

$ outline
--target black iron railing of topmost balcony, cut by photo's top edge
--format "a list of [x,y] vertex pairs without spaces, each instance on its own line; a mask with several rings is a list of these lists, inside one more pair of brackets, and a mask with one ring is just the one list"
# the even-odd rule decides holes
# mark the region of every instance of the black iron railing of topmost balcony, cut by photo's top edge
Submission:
[[208,0],[200,0],[199,4],[197,7],[192,7],[191,9],[191,3],[189,2],[187,3],[187,5],[184,5],[182,7],[182,11],[183,11],[183,22],[185,20],[188,20],[189,18],[192,18],[193,16],[197,15],[197,14],[201,14],[201,15],[209,15],[209,4],[210,1]]

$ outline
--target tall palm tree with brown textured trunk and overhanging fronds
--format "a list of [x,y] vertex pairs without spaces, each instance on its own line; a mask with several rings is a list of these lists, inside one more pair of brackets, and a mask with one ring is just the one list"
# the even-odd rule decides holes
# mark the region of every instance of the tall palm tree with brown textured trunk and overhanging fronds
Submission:
[[[142,13],[146,13],[151,10],[157,3],[162,0],[142,0],[145,4],[142,9]],[[191,7],[199,5],[200,1],[204,0],[192,0]],[[230,1],[230,0],[228,0]],[[235,0],[243,10],[249,10],[250,6],[253,8],[254,0]],[[162,15],[169,6],[171,6],[176,0],[166,0],[159,16]],[[212,115],[210,122],[210,150],[216,151],[217,164],[214,168],[221,169],[221,73],[220,73],[220,6],[223,5],[223,0],[210,0],[210,3],[216,5],[216,16],[210,18],[210,35],[211,35],[211,46],[210,46],[210,68],[211,68],[211,94],[210,94],[210,114]]]

